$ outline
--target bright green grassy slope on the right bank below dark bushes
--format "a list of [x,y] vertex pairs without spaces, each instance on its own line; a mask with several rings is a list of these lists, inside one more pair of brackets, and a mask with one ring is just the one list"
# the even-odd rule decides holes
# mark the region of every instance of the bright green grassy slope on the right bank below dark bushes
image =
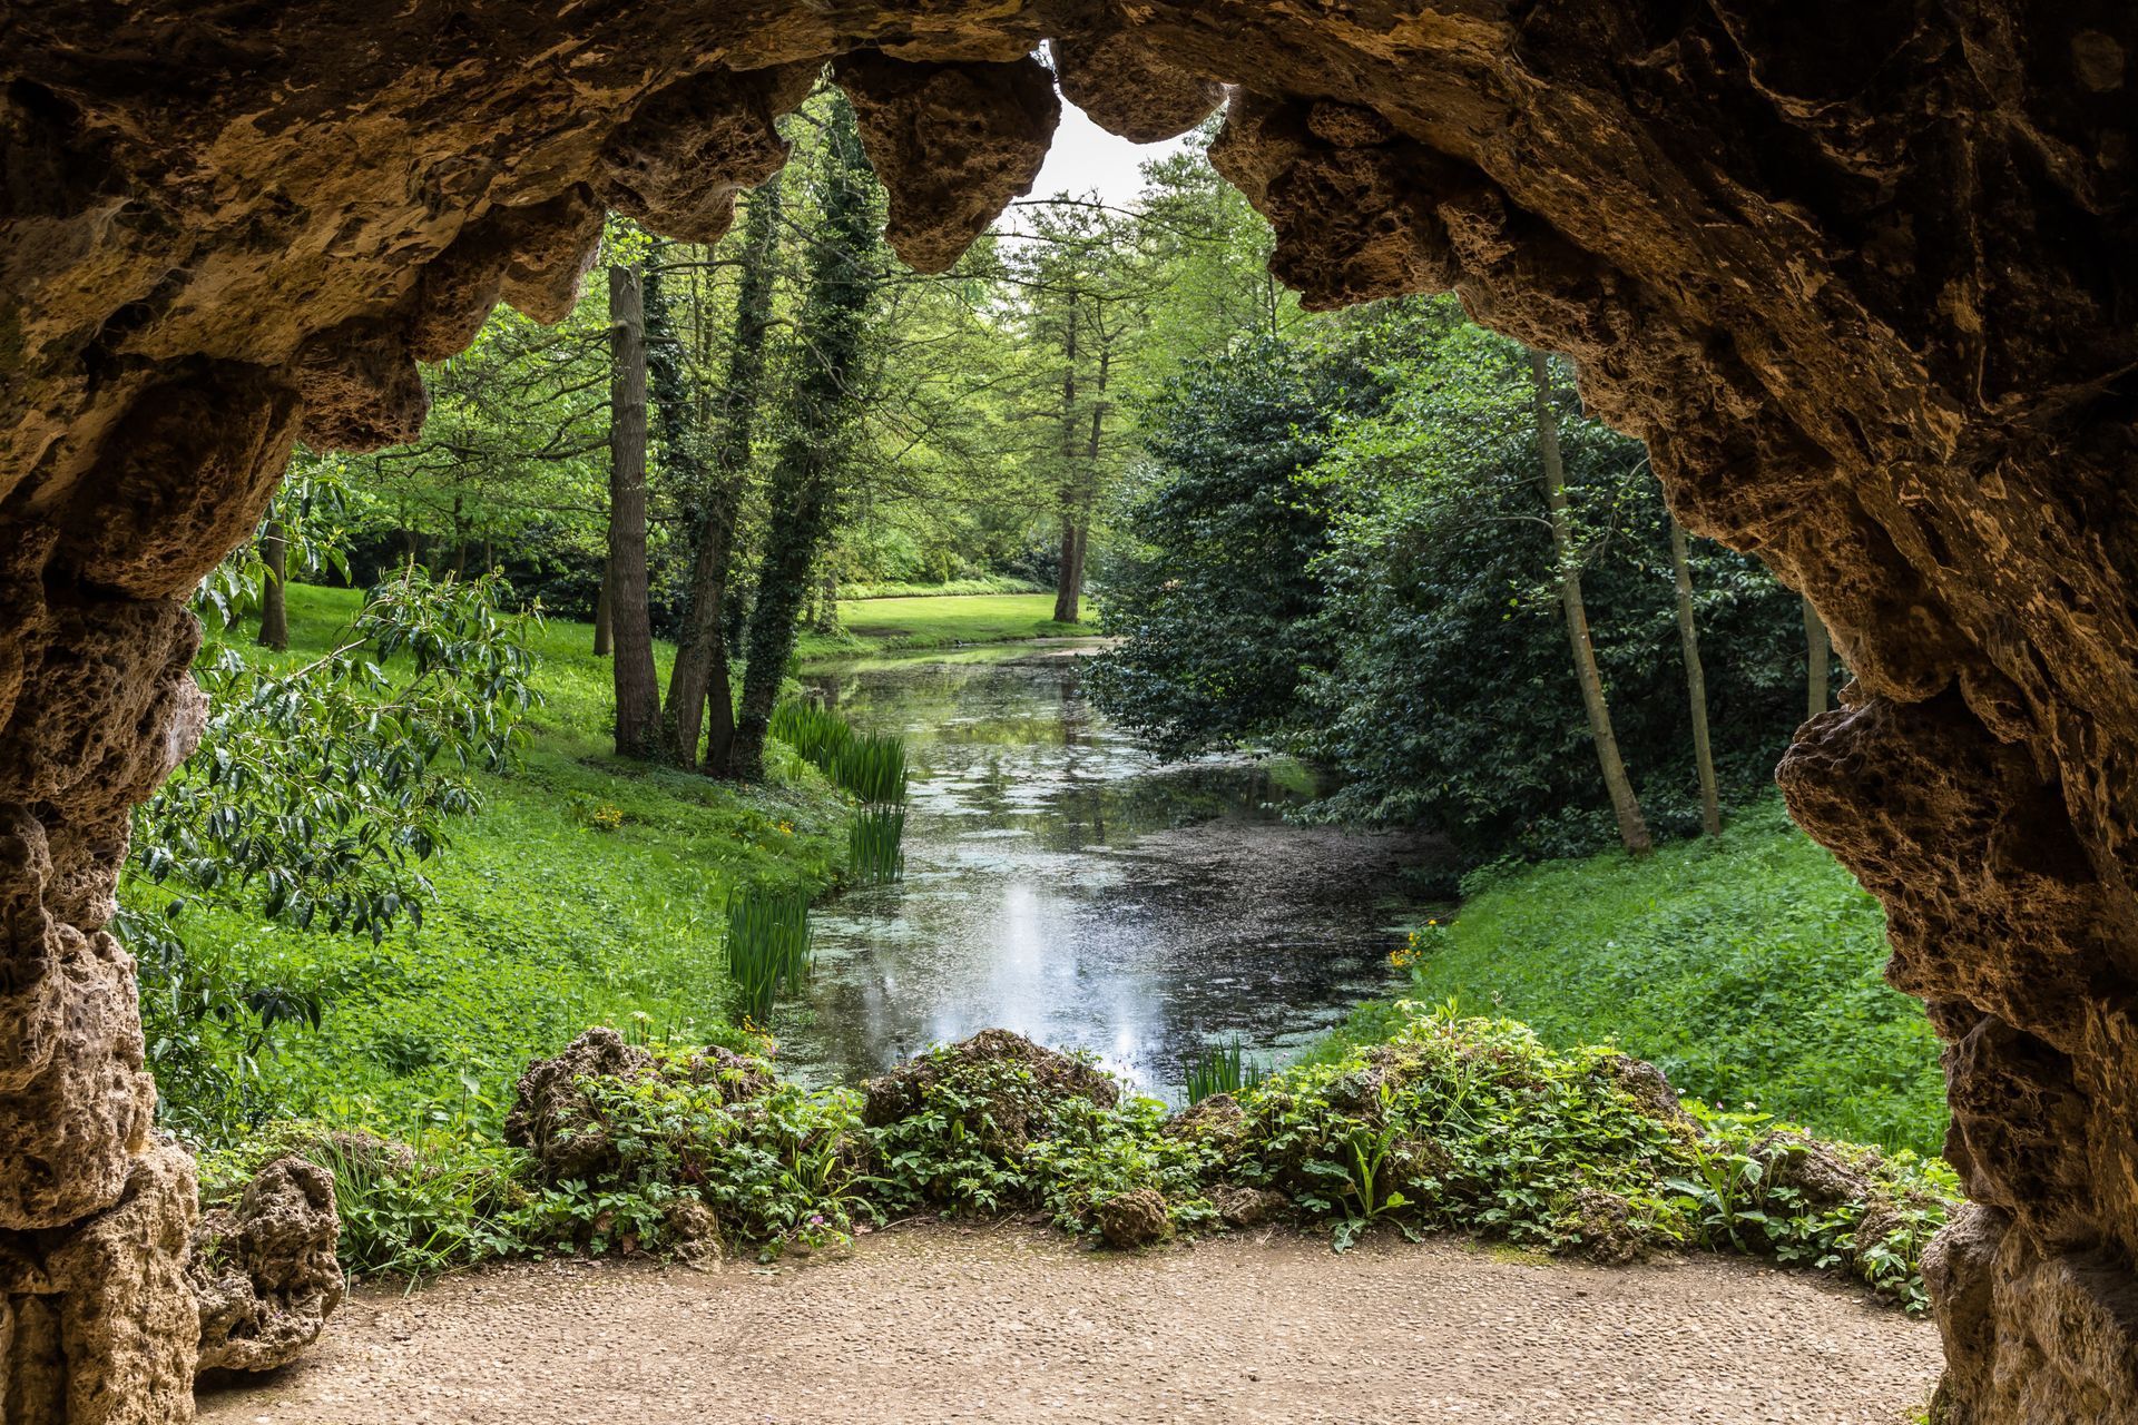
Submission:
[[[1713,842],[1554,861],[1471,891],[1417,936],[1409,993],[1527,1021],[1554,1045],[1616,1040],[1706,1102],[1939,1152],[1937,1036],[1881,978],[1884,912],[1779,801]],[[1362,1008],[1341,1038],[1370,1038],[1385,1013]]]

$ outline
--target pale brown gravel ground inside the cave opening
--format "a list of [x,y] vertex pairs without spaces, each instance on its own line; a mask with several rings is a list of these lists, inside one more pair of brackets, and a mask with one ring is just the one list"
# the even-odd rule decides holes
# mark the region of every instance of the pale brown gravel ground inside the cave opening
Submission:
[[1745,1260],[1529,1263],[1285,1233],[1148,1256],[1013,1226],[716,1271],[534,1263],[361,1290],[212,1425],[1899,1425],[1937,1333]]

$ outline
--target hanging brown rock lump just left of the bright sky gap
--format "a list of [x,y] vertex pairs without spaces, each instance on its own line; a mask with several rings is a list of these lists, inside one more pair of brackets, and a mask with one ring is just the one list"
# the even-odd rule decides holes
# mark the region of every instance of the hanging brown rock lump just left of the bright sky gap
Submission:
[[1033,190],[1060,120],[1037,60],[909,64],[851,53],[834,66],[868,162],[889,192],[885,241],[915,271],[943,271],[1011,199]]

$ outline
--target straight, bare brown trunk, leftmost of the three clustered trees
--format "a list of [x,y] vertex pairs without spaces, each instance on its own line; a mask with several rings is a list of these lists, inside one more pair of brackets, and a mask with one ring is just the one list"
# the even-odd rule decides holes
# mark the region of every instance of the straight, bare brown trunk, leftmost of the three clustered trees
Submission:
[[609,267],[609,637],[616,752],[648,756],[661,731],[646,598],[646,308],[635,267]]

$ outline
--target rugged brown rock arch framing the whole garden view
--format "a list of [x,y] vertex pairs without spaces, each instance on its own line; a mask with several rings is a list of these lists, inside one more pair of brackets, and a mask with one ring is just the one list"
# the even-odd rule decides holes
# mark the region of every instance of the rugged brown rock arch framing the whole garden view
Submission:
[[[941,265],[1063,90],[1214,158],[1315,303],[1569,353],[1858,684],[1781,769],[1946,1036],[1952,1419],[2138,1421],[2138,17],[2119,0],[451,0],[0,30],[0,1399],[190,1414],[195,1211],[100,927],[188,752],[182,596],[299,438],[560,316],[603,207],[718,233],[832,60]],[[956,182],[945,182],[945,175]]]

